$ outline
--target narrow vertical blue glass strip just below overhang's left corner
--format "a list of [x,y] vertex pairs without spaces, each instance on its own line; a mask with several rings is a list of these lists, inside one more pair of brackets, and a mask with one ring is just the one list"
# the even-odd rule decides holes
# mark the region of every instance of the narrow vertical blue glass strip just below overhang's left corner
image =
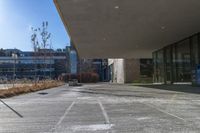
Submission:
[[77,73],[77,55],[75,51],[70,52],[70,60],[71,60],[71,73]]

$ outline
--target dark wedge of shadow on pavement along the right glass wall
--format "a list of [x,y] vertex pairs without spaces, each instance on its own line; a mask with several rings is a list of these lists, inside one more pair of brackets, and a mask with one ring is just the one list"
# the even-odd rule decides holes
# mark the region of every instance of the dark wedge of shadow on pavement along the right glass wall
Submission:
[[200,94],[200,87],[194,87],[192,85],[134,85],[134,86],[159,89],[159,90]]

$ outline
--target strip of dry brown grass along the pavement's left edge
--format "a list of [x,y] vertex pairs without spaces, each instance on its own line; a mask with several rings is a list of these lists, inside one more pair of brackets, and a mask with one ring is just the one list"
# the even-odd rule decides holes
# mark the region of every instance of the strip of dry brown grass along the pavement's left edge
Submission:
[[24,85],[20,87],[12,87],[5,90],[0,90],[0,98],[8,98],[20,94],[35,92],[39,90],[45,90],[52,87],[58,87],[63,85],[63,82],[60,81],[43,81],[37,84]]

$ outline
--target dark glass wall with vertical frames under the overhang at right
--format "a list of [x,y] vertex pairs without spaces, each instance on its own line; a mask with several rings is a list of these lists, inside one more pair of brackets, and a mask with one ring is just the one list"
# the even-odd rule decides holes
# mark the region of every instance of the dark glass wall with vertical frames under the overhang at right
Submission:
[[153,52],[155,83],[192,82],[200,64],[200,33]]

